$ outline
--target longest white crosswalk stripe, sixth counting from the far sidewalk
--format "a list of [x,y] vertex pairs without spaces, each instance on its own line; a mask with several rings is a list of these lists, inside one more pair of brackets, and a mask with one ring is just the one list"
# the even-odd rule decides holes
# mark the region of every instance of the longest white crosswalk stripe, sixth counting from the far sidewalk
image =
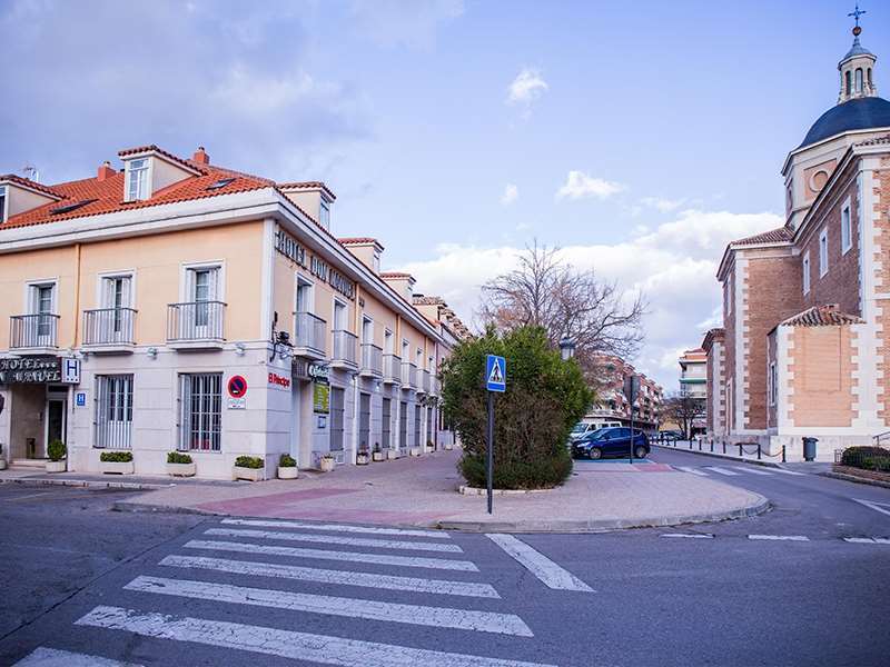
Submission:
[[121,607],[96,607],[79,619],[77,625],[340,667],[365,665],[375,667],[553,667],[537,663],[310,635],[240,623],[207,620],[188,616],[174,617],[164,614],[140,614],[134,609]]

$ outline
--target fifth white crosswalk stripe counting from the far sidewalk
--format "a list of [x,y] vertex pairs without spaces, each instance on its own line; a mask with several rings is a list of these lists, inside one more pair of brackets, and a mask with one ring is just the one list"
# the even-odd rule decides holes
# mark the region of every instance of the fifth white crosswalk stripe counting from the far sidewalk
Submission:
[[454,628],[457,630],[514,635],[516,637],[534,637],[528,626],[515,614],[428,607],[425,605],[403,605],[146,576],[136,577],[123,588],[126,590],[157,593],[192,600],[211,600],[214,603],[270,607],[290,611],[307,611],[309,614],[345,616],[347,618],[364,618],[387,623],[404,623],[433,628]]

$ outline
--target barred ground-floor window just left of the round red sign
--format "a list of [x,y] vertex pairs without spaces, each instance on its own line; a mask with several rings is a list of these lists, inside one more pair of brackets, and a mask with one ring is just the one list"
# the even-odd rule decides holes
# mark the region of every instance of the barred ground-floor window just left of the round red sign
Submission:
[[179,376],[179,449],[219,451],[222,420],[222,374]]

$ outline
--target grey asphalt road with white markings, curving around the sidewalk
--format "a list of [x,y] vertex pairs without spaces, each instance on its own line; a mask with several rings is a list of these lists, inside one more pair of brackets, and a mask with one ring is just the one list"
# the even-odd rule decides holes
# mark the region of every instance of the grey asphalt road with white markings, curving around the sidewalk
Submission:
[[890,540],[843,538],[890,537],[890,515],[851,500],[890,490],[735,471],[720,480],[777,508],[500,544],[118,514],[121,494],[0,486],[0,664],[886,665]]

